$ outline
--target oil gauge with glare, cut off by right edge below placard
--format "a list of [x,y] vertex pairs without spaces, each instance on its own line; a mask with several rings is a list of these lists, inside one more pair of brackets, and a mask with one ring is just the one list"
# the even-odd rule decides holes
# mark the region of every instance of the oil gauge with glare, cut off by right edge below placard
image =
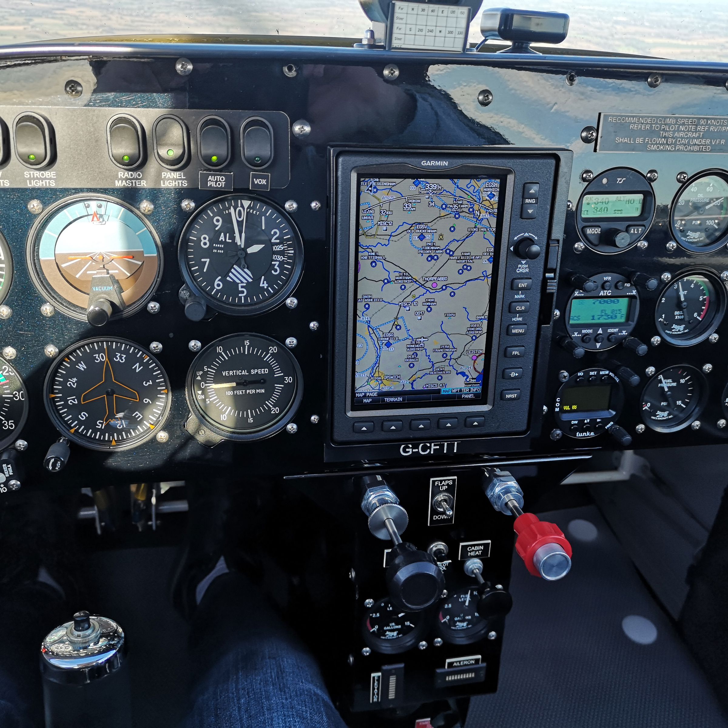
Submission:
[[709,253],[719,248],[728,231],[728,181],[703,175],[678,193],[671,216],[673,234],[687,250]]

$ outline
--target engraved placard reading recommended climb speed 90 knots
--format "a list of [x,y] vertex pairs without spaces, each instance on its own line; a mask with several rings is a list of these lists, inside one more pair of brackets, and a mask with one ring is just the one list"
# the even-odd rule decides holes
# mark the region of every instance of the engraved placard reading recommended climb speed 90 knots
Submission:
[[728,116],[599,114],[596,151],[728,154]]

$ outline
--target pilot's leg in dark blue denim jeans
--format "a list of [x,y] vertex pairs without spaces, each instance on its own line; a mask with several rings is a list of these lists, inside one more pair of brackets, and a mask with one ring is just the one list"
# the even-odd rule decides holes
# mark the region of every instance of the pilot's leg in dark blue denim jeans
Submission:
[[191,647],[186,728],[345,728],[312,655],[241,574],[207,587]]

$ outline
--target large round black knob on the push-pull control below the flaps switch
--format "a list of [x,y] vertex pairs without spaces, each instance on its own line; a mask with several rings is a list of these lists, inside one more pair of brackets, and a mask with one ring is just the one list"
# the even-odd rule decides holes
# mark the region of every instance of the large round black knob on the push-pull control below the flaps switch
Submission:
[[402,542],[392,547],[391,557],[385,578],[397,609],[419,612],[440,598],[445,577],[430,554]]

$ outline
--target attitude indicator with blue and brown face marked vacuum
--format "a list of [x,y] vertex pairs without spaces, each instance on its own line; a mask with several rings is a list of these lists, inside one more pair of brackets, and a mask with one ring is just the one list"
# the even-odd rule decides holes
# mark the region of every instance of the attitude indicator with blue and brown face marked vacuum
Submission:
[[146,305],[162,274],[162,249],[149,223],[121,200],[100,195],[50,207],[31,230],[27,255],[40,292],[80,320],[100,298],[108,302],[104,320],[130,316]]

